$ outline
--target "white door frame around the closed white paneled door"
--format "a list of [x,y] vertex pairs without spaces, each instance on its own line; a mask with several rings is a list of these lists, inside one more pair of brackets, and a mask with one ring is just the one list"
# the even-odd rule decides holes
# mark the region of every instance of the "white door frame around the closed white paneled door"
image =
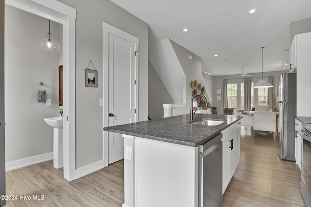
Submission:
[[[138,46],[139,46],[139,39],[138,37],[129,34],[127,32],[124,32],[106,22],[103,22],[103,30],[104,30],[104,90],[103,90],[103,97],[104,97],[104,110],[103,110],[103,125],[104,127],[108,127],[108,123],[109,123],[109,33],[117,35],[119,37],[124,37],[126,36],[126,40],[129,40],[133,43],[135,43],[135,47],[136,50],[138,50]],[[136,109],[136,113],[135,113],[135,121],[138,122],[138,51],[137,51],[137,55],[135,58],[135,109]],[[104,131],[103,134],[103,149],[104,149],[104,153],[103,153],[103,159],[104,159],[104,166],[108,166],[108,150],[109,150],[109,143],[108,143],[108,139],[109,139],[109,132],[108,131]]]

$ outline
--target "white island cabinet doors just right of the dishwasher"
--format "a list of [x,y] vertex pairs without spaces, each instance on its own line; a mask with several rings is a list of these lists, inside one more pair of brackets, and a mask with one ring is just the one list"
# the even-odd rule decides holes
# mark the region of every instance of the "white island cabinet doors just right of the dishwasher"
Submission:
[[223,133],[223,194],[240,161],[241,123],[226,128]]

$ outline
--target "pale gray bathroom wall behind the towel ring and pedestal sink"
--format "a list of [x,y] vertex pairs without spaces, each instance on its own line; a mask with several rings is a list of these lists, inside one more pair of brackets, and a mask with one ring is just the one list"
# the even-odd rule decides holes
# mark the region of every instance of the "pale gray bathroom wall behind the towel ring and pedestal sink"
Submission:
[[[51,21],[58,40],[59,24]],[[58,116],[59,55],[40,52],[48,19],[5,5],[5,152],[6,162],[53,151],[53,129],[43,118]],[[47,85],[52,105],[36,101],[36,85]]]

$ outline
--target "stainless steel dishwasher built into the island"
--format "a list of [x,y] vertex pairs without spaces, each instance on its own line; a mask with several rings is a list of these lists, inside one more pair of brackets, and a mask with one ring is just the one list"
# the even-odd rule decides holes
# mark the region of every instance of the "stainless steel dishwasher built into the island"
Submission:
[[223,134],[199,146],[199,207],[223,206]]

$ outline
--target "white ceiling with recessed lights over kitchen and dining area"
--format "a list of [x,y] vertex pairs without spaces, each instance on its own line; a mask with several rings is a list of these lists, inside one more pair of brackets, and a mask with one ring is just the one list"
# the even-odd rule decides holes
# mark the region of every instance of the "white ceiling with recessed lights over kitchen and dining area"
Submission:
[[111,1],[149,24],[150,42],[172,39],[214,76],[261,72],[261,47],[263,71],[284,70],[290,22],[311,17],[311,0]]

